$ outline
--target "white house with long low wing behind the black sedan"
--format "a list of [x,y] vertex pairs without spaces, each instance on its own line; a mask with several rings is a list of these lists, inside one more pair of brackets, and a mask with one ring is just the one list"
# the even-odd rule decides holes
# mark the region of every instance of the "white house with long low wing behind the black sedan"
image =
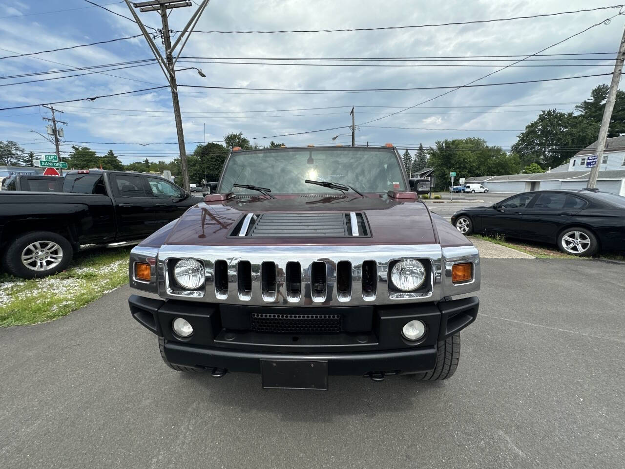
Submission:
[[[583,189],[591,168],[586,168],[588,156],[596,154],[597,142],[579,151],[567,163],[538,174],[511,174],[509,176],[482,176],[467,178],[466,183],[482,184],[490,192],[516,194],[544,189]],[[599,164],[597,189],[625,196],[625,136],[606,141]]]

